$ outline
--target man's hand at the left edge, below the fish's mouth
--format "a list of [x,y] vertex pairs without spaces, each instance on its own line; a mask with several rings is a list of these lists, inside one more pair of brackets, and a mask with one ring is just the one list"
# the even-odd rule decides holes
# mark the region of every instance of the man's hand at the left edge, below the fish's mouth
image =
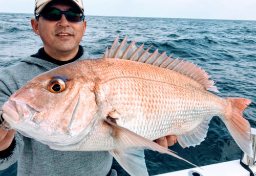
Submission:
[[[6,121],[5,124],[9,125]],[[11,145],[15,132],[15,130],[5,130],[0,127],[0,151],[5,150]]]

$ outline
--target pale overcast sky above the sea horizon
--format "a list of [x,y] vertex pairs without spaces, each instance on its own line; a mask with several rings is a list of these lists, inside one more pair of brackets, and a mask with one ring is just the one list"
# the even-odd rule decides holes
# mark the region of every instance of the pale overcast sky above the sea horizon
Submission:
[[[83,0],[86,15],[256,20],[256,0]],[[0,12],[33,13],[34,0],[0,0]]]

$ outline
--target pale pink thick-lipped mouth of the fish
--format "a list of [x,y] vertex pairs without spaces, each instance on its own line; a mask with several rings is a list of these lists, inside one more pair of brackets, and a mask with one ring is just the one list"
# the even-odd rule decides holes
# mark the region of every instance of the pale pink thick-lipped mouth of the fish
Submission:
[[2,109],[4,111],[4,119],[10,124],[17,124],[21,121],[31,120],[35,113],[38,112],[36,109],[26,103],[10,99],[4,103]]

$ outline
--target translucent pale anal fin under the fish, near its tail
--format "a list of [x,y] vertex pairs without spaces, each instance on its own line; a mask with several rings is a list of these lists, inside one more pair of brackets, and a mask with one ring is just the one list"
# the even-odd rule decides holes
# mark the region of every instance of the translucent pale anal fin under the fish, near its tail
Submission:
[[208,118],[203,123],[201,123],[195,131],[188,134],[177,136],[177,140],[179,144],[183,148],[189,147],[189,146],[195,147],[196,145],[199,145],[202,141],[204,141],[204,138],[206,137],[206,134],[209,128],[209,123],[211,118]]

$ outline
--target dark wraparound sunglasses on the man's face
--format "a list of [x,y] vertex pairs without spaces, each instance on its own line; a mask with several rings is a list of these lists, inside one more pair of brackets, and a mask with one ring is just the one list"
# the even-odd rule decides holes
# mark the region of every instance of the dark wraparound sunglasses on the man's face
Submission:
[[64,11],[61,11],[61,10],[58,10],[58,9],[48,9],[48,10],[45,10],[45,11],[40,13],[40,15],[43,18],[45,18],[47,20],[50,20],[50,21],[60,20],[61,17],[62,17],[62,14],[65,14],[67,20],[71,21],[71,22],[79,22],[79,21],[82,21],[85,18],[83,13],[78,12],[78,11],[73,11],[73,10],[64,12]]

